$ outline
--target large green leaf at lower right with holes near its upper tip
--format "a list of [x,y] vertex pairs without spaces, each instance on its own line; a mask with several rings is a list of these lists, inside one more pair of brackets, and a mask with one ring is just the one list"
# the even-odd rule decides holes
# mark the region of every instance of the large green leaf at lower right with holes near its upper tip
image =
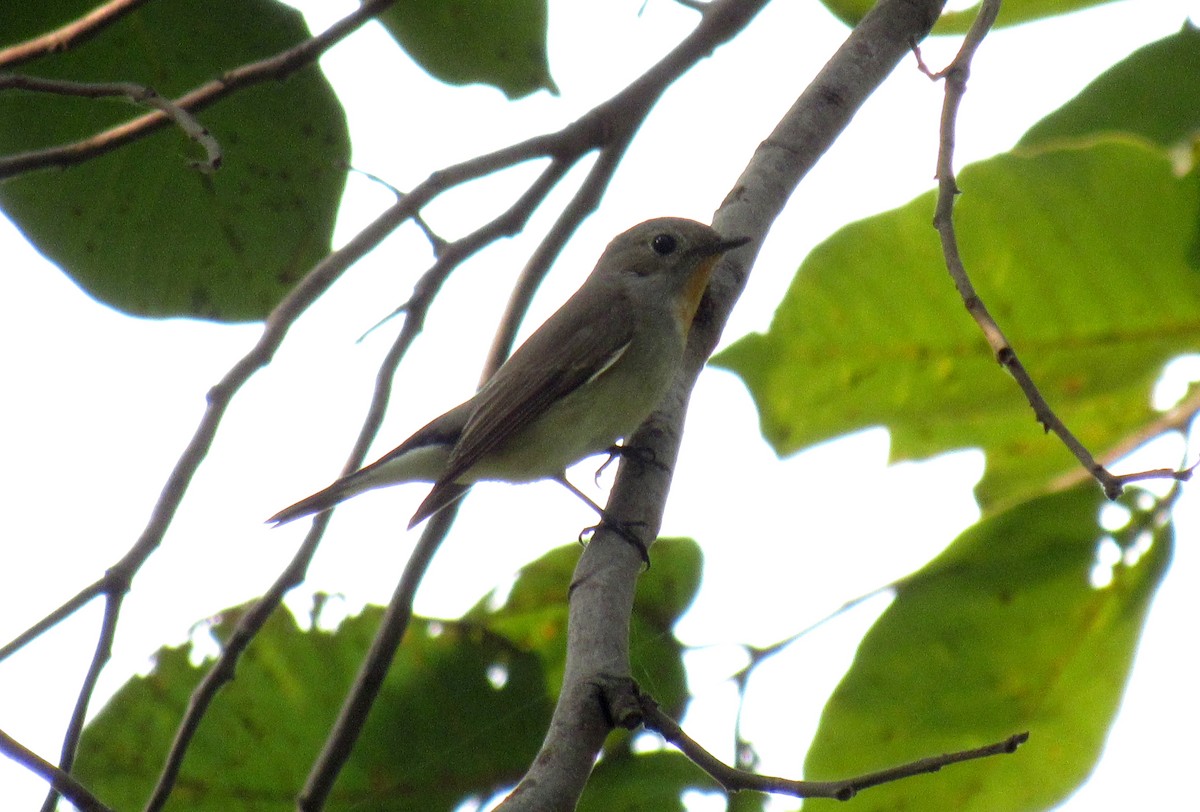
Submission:
[[[1102,501],[1082,487],[1021,504],[905,579],[826,705],[805,777],[848,777],[1028,730],[1014,754],[865,790],[854,808],[1015,812],[1069,795],[1103,748],[1174,545],[1171,525],[1147,515],[1115,542],[1098,524]],[[1098,552],[1117,543],[1111,581],[1093,585],[1108,560]]]

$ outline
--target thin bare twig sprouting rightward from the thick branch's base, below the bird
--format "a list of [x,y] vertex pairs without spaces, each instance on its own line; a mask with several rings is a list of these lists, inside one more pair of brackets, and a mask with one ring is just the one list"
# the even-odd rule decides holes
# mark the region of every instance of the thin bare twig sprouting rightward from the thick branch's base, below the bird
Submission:
[[679,723],[662,712],[658,703],[644,693],[638,694],[642,705],[642,718],[646,727],[658,732],[664,739],[679,748],[684,756],[696,763],[700,769],[712,776],[727,792],[736,793],[750,789],[761,793],[774,793],[791,795],[793,798],[832,798],[839,801],[847,801],[863,789],[877,787],[880,784],[911,778],[912,776],[926,772],[937,772],[943,766],[971,762],[991,756],[1016,752],[1016,748],[1025,744],[1030,734],[1018,733],[1003,741],[997,741],[983,747],[960,750],[953,753],[931,756],[907,764],[900,764],[887,770],[868,772],[853,778],[841,778],[839,781],[798,781],[794,778],[782,778],[778,776],[758,775],[748,770],[732,768],[704,750],[695,739],[684,733]]

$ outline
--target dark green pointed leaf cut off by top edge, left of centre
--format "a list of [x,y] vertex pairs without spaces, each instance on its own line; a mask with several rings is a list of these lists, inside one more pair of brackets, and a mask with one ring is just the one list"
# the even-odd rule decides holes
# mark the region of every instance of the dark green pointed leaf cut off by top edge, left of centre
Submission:
[[558,92],[546,59],[546,0],[400,0],[379,22],[430,74],[509,98]]

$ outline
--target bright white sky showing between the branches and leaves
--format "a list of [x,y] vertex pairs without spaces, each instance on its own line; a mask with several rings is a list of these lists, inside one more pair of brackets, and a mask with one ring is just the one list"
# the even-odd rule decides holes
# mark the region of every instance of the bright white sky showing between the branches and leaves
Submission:
[[[317,26],[349,8],[313,5],[324,14],[313,18]],[[350,116],[354,164],[404,188],[440,166],[558,128],[624,86],[692,24],[692,14],[670,0],[649,0],[638,14],[641,7],[641,0],[552,2],[551,68],[562,96],[517,103],[487,88],[440,86],[390,49],[379,30],[355,35],[323,62]],[[1088,79],[1198,11],[1183,0],[1118,2],[994,34],[974,64],[959,164],[1007,149]],[[569,295],[617,231],[668,213],[708,221],[755,145],[844,36],[817,4],[776,2],[680,82],[643,128],[602,210],[556,266],[529,323]],[[926,60],[943,62],[955,44],[928,43]],[[613,50],[620,52],[616,62]],[[871,100],[776,223],[727,341],[766,329],[793,269],[817,241],[931,186],[941,92],[908,61]],[[500,197],[448,198],[428,219],[444,236],[461,235],[508,205],[508,184],[487,184]],[[389,203],[388,192],[352,178],[338,241]],[[497,303],[551,222],[553,210],[546,212],[530,224],[532,239],[497,246],[455,275],[402,368],[404,389],[377,452],[473,391]],[[108,311],[6,222],[0,257],[0,342],[8,348],[0,372],[10,387],[0,423],[0,639],[7,640],[128,549],[200,417],[205,391],[259,327],[145,321]],[[144,669],[160,645],[186,639],[198,619],[258,595],[289,559],[306,524],[269,531],[263,519],[324,486],[341,467],[398,321],[361,344],[355,339],[406,299],[426,261],[413,234],[390,240],[301,319],[276,362],[239,395],[162,549],[133,584],[104,696]],[[481,308],[472,309],[475,303]],[[1181,451],[1168,443],[1129,467],[1171,465]],[[757,433],[740,383],[720,371],[702,377],[664,535],[692,535],[704,546],[702,594],[678,631],[706,646],[689,657],[697,703],[686,727],[719,756],[731,756],[734,694],[726,676],[740,664],[733,643],[793,633],[919,567],[977,517],[977,452],[892,468],[886,461],[886,433],[870,431],[779,463]],[[590,469],[576,480],[587,482]],[[402,527],[422,495],[420,486],[391,488],[340,509],[311,589],[344,594],[352,609],[386,601],[415,540],[390,528]],[[1200,609],[1195,505],[1189,495],[1181,509],[1175,564],[1105,758],[1064,808],[1176,807],[1175,782],[1162,776],[1188,775],[1200,756],[1192,735],[1200,728],[1194,631],[1184,627]],[[551,483],[476,488],[418,610],[462,612],[505,573],[574,540],[592,521]],[[493,539],[497,523],[520,531],[503,545],[480,543]],[[858,634],[883,606],[875,601],[839,619],[760,669],[745,732],[764,771],[796,772]],[[49,758],[91,656],[100,609],[97,602],[0,664],[0,728]],[[5,762],[0,788],[4,806],[14,810],[36,808],[43,792],[41,781]],[[696,808],[720,805],[697,800]]]

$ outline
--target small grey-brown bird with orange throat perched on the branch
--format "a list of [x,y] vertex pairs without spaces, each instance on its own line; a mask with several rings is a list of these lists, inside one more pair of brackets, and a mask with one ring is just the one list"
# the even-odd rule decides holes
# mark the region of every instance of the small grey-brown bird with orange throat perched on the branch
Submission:
[[746,242],[678,217],[635,225],[474,397],[268,521],[283,524],[401,482],[433,482],[409,528],[480,480],[554,479],[590,503],[566,468],[629,437],[659,404],[716,260]]

